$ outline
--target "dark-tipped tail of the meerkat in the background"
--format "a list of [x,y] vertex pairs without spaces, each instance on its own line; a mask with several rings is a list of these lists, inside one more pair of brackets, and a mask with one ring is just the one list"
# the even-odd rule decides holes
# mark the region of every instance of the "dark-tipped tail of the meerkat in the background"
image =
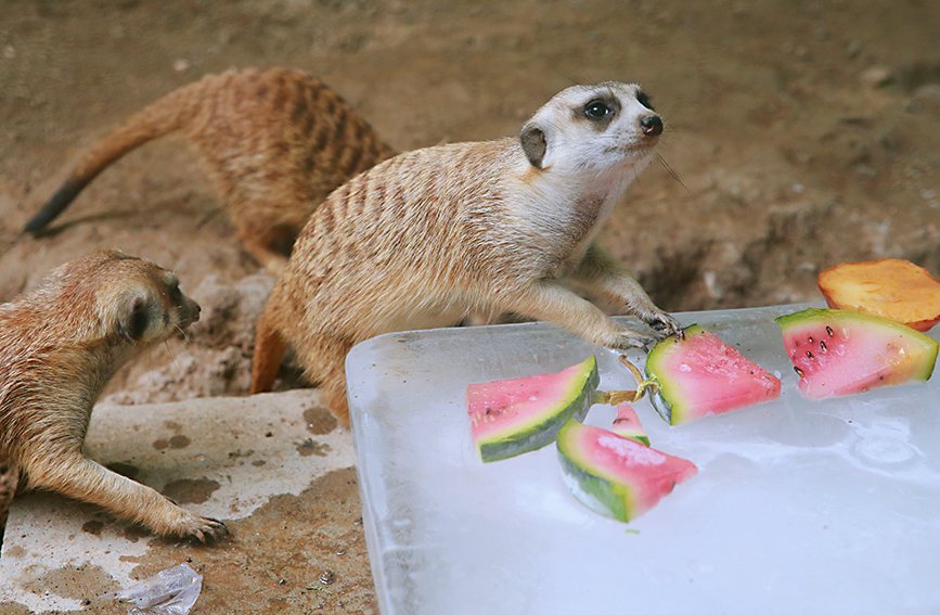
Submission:
[[182,128],[198,111],[194,89],[206,79],[170,92],[144,107],[111,134],[99,141],[78,163],[55,194],[24,227],[23,232],[42,230],[68,207],[76,196],[108,165],[138,146]]

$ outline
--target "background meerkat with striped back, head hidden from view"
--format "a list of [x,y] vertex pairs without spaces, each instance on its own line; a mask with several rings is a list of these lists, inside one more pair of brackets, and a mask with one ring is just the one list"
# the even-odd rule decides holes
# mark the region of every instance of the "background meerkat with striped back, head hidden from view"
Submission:
[[285,68],[229,71],[170,92],[98,142],[24,232],[41,231],[108,165],[171,132],[203,159],[245,249],[275,274],[316,206],[396,154],[318,79]]

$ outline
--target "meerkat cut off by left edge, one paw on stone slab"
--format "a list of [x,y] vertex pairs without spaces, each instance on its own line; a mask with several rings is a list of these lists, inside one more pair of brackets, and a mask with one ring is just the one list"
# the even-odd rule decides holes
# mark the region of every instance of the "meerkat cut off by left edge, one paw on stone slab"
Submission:
[[180,292],[176,276],[113,251],[69,261],[0,306],[4,475],[98,504],[159,535],[205,542],[228,534],[221,522],[82,453],[92,407],[118,368],[198,317],[198,304]]

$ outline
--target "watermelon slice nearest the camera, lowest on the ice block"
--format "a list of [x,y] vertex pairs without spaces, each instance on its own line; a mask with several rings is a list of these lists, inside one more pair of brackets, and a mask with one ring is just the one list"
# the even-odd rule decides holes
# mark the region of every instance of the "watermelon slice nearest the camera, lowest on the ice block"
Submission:
[[565,484],[592,511],[628,522],[694,476],[691,461],[568,419],[558,432]]

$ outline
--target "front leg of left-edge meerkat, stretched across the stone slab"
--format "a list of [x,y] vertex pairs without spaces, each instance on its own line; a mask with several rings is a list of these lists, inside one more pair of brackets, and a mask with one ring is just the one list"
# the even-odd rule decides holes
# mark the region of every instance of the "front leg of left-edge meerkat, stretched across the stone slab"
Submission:
[[33,486],[98,504],[164,536],[207,542],[229,533],[222,522],[195,515],[155,489],[103,467],[79,450],[56,451],[39,459],[43,461],[26,467]]

